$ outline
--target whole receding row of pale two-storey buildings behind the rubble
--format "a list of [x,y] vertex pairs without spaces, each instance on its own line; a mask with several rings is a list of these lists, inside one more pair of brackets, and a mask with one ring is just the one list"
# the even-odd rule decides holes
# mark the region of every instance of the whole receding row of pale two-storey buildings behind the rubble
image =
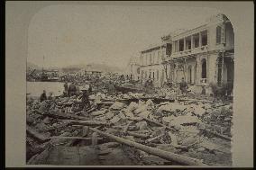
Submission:
[[133,79],[150,78],[158,87],[179,83],[182,77],[189,85],[233,86],[234,33],[224,14],[212,16],[191,30],[172,31],[160,41],[130,60]]

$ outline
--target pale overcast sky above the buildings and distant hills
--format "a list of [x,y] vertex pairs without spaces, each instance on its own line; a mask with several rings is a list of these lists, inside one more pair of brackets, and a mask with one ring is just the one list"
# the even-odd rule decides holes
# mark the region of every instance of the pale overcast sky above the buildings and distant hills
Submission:
[[42,66],[105,63],[125,67],[134,55],[177,29],[192,29],[212,8],[128,5],[50,5],[29,26],[28,61]]

